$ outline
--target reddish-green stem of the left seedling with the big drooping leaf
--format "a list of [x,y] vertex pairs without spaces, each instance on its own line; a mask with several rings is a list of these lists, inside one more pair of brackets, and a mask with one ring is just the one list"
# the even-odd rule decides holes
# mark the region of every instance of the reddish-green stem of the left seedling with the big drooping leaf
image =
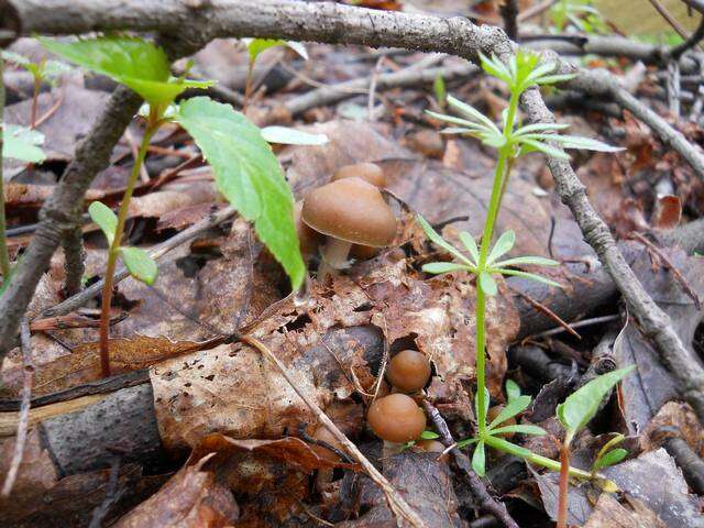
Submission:
[[132,174],[128,180],[122,202],[120,204],[120,211],[118,212],[118,227],[116,228],[114,238],[110,250],[108,251],[108,265],[106,268],[105,285],[102,287],[102,305],[100,310],[100,369],[103,377],[110,376],[110,301],[112,300],[112,279],[114,276],[114,270],[118,264],[118,256],[120,254],[120,244],[122,243],[122,234],[124,232],[124,223],[128,218],[128,209],[130,206],[130,199],[134,191],[134,185],[140,175],[140,168],[144,158],[146,157],[146,151],[150,146],[150,141],[156,132],[160,125],[158,119],[155,113],[150,116],[150,122],[144,131],[140,150],[138,151],[136,158],[134,160],[134,166],[132,167]]

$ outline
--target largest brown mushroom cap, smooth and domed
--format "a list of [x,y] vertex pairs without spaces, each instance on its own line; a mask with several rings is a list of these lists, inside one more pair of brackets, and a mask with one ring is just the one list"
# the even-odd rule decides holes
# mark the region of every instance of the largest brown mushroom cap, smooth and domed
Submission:
[[396,218],[384,197],[360,178],[339,179],[310,191],[301,218],[316,231],[352,244],[383,248],[396,237]]

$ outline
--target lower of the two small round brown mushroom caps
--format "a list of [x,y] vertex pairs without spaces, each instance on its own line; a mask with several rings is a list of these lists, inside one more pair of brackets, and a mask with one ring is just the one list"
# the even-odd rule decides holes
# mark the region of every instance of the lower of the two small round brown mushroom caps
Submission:
[[415,440],[426,429],[426,415],[420,407],[398,393],[376,399],[370,406],[366,421],[377,437],[388,442]]

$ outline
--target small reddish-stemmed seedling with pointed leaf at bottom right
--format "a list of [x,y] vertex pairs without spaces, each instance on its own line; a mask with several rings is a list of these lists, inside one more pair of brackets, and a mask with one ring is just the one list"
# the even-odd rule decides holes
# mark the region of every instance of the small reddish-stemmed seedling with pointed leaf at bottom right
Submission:
[[[564,427],[564,441],[560,449],[560,498],[558,506],[558,528],[566,528],[568,519],[568,493],[569,493],[569,468],[570,468],[570,444],[586,425],[594,418],[602,400],[610,393],[610,391],[620,382],[628,373],[635,369],[634,365],[620,369],[618,371],[603,374],[583,387],[579,388],[558,406],[557,415],[560,424]],[[625,449],[616,449],[609,451],[610,447],[618,441],[618,437],[606,446],[596,457],[592,466],[592,474],[601,468],[606,468],[618,463],[628,454]],[[617,440],[617,441],[616,441]]]

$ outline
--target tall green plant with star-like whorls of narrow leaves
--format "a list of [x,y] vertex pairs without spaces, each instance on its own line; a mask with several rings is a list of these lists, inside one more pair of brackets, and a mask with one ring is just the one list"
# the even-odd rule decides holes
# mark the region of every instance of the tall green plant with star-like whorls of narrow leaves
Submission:
[[[504,411],[491,424],[487,424],[486,414],[490,405],[486,389],[485,373],[485,343],[486,343],[486,298],[498,292],[495,277],[498,275],[515,275],[531,280],[538,280],[551,286],[560,285],[542,275],[520,270],[525,265],[554,266],[557,262],[541,256],[518,256],[505,258],[513,249],[516,235],[513,231],[504,232],[496,243],[493,243],[496,220],[501,210],[504,194],[510,178],[512,168],[517,157],[541,152],[544,155],[558,160],[569,160],[563,150],[558,148],[585,148],[601,152],[615,152],[622,148],[613,147],[605,143],[587,138],[560,134],[559,131],[566,128],[564,124],[534,123],[522,124],[518,118],[518,102],[524,91],[532,86],[553,85],[572,78],[571,75],[556,74],[553,63],[540,63],[537,55],[519,51],[507,64],[496,57],[481,56],[482,68],[490,75],[503,80],[509,91],[508,108],[502,117],[501,128],[497,127],[482,112],[458,99],[449,96],[448,105],[462,117],[447,116],[428,112],[433,118],[452,124],[452,128],[443,132],[449,134],[462,134],[476,138],[485,145],[498,151],[498,160],[494,170],[494,182],[490,198],[488,210],[484,222],[481,245],[477,246],[474,238],[466,231],[460,233],[463,250],[454,248],[442,239],[430,224],[422,218],[418,221],[427,237],[441,250],[453,257],[453,262],[433,262],[424,265],[424,271],[432,274],[442,274],[457,271],[465,271],[476,276],[476,398],[475,408],[477,416],[477,436],[463,440],[462,446],[475,444],[472,457],[473,468],[477,474],[485,473],[485,447],[522,457],[524,459],[559,470],[557,461],[536,455],[530,451],[497,437],[502,432],[519,432],[524,435],[541,435],[543,431],[535,426],[502,426],[506,420],[525,410],[530,404],[528,396],[517,395],[516,387],[510,386],[509,403]],[[507,392],[509,392],[507,389]],[[588,477],[588,472],[571,470],[572,474]]]

